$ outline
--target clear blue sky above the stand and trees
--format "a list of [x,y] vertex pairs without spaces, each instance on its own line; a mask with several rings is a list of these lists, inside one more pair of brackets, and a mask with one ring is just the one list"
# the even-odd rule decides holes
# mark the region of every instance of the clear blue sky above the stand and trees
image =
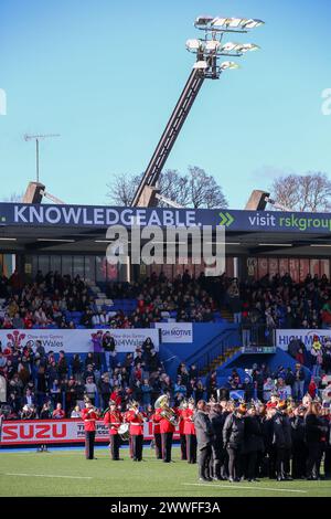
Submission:
[[[1,199],[35,176],[68,203],[107,203],[106,183],[148,165],[194,62],[199,14],[260,18],[261,51],[205,82],[167,162],[213,173],[229,206],[279,173],[331,176],[330,0],[1,0]],[[232,39],[234,40],[234,39]]]

